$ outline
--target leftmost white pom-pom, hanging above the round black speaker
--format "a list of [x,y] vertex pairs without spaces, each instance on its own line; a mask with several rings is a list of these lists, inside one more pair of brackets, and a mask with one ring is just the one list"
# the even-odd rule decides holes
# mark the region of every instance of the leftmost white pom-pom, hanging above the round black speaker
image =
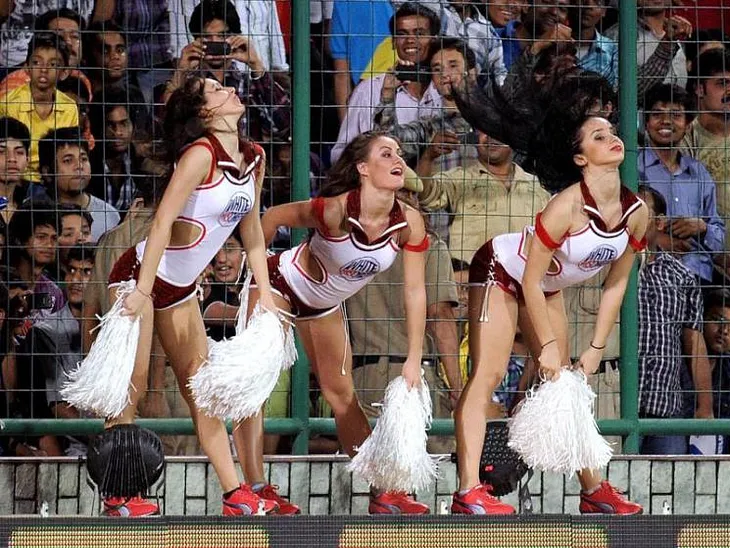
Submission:
[[124,298],[135,286],[134,280],[119,285],[117,300],[100,318],[99,335],[89,354],[68,374],[61,397],[77,409],[111,419],[121,415],[129,405],[130,380],[139,344],[139,318],[122,316],[122,311]]

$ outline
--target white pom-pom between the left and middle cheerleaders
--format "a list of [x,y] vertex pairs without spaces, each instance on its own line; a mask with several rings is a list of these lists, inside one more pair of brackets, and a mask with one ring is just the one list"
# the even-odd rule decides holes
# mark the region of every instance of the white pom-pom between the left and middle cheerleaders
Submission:
[[243,332],[237,331],[230,339],[210,341],[206,364],[189,381],[201,410],[234,421],[256,415],[280,373],[297,359],[291,325],[278,314],[257,305]]

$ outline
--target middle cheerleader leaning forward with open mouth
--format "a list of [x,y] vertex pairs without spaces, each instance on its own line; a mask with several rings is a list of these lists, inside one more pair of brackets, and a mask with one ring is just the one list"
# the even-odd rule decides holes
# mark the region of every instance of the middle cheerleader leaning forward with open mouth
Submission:
[[[405,163],[394,139],[376,132],[356,137],[332,167],[319,197],[276,206],[264,214],[266,241],[280,226],[310,228],[310,238],[269,258],[274,300],[296,318],[296,329],[332,407],[337,436],[353,456],[370,435],[370,425],[355,395],[352,352],[342,304],[404,253],[408,356],[402,374],[420,383],[426,327],[425,254],[428,238],[420,213],[396,198],[403,188]],[[255,274],[258,283],[258,275]],[[249,313],[261,295],[252,284]],[[233,431],[246,480],[280,513],[299,509],[267,485],[263,467],[263,410]],[[428,506],[405,493],[371,493],[370,513],[425,514]]]

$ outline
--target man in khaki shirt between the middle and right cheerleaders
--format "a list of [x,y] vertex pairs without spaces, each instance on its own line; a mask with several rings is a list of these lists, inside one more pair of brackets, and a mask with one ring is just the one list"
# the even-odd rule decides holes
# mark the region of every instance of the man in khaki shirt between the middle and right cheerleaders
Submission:
[[449,213],[451,256],[467,263],[487,240],[528,226],[550,198],[512,161],[511,148],[481,132],[478,138],[476,161],[424,178],[419,194],[425,209]]

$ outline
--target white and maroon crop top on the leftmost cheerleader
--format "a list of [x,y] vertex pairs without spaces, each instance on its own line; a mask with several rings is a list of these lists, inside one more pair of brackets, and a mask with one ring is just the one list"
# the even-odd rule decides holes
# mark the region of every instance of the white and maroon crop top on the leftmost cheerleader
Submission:
[[[181,152],[192,147],[206,148],[213,161],[208,177],[188,196],[182,213],[176,222],[190,223],[200,228],[194,242],[186,246],[165,248],[160,259],[157,275],[172,285],[186,287],[195,282],[200,273],[218,253],[225,241],[244,216],[251,212],[256,203],[256,166],[263,158],[261,147],[242,143],[245,169],[228,155],[220,141],[207,135],[206,141],[196,141]],[[221,174],[213,178],[216,168]],[[137,244],[137,259],[141,262],[147,240]]]

